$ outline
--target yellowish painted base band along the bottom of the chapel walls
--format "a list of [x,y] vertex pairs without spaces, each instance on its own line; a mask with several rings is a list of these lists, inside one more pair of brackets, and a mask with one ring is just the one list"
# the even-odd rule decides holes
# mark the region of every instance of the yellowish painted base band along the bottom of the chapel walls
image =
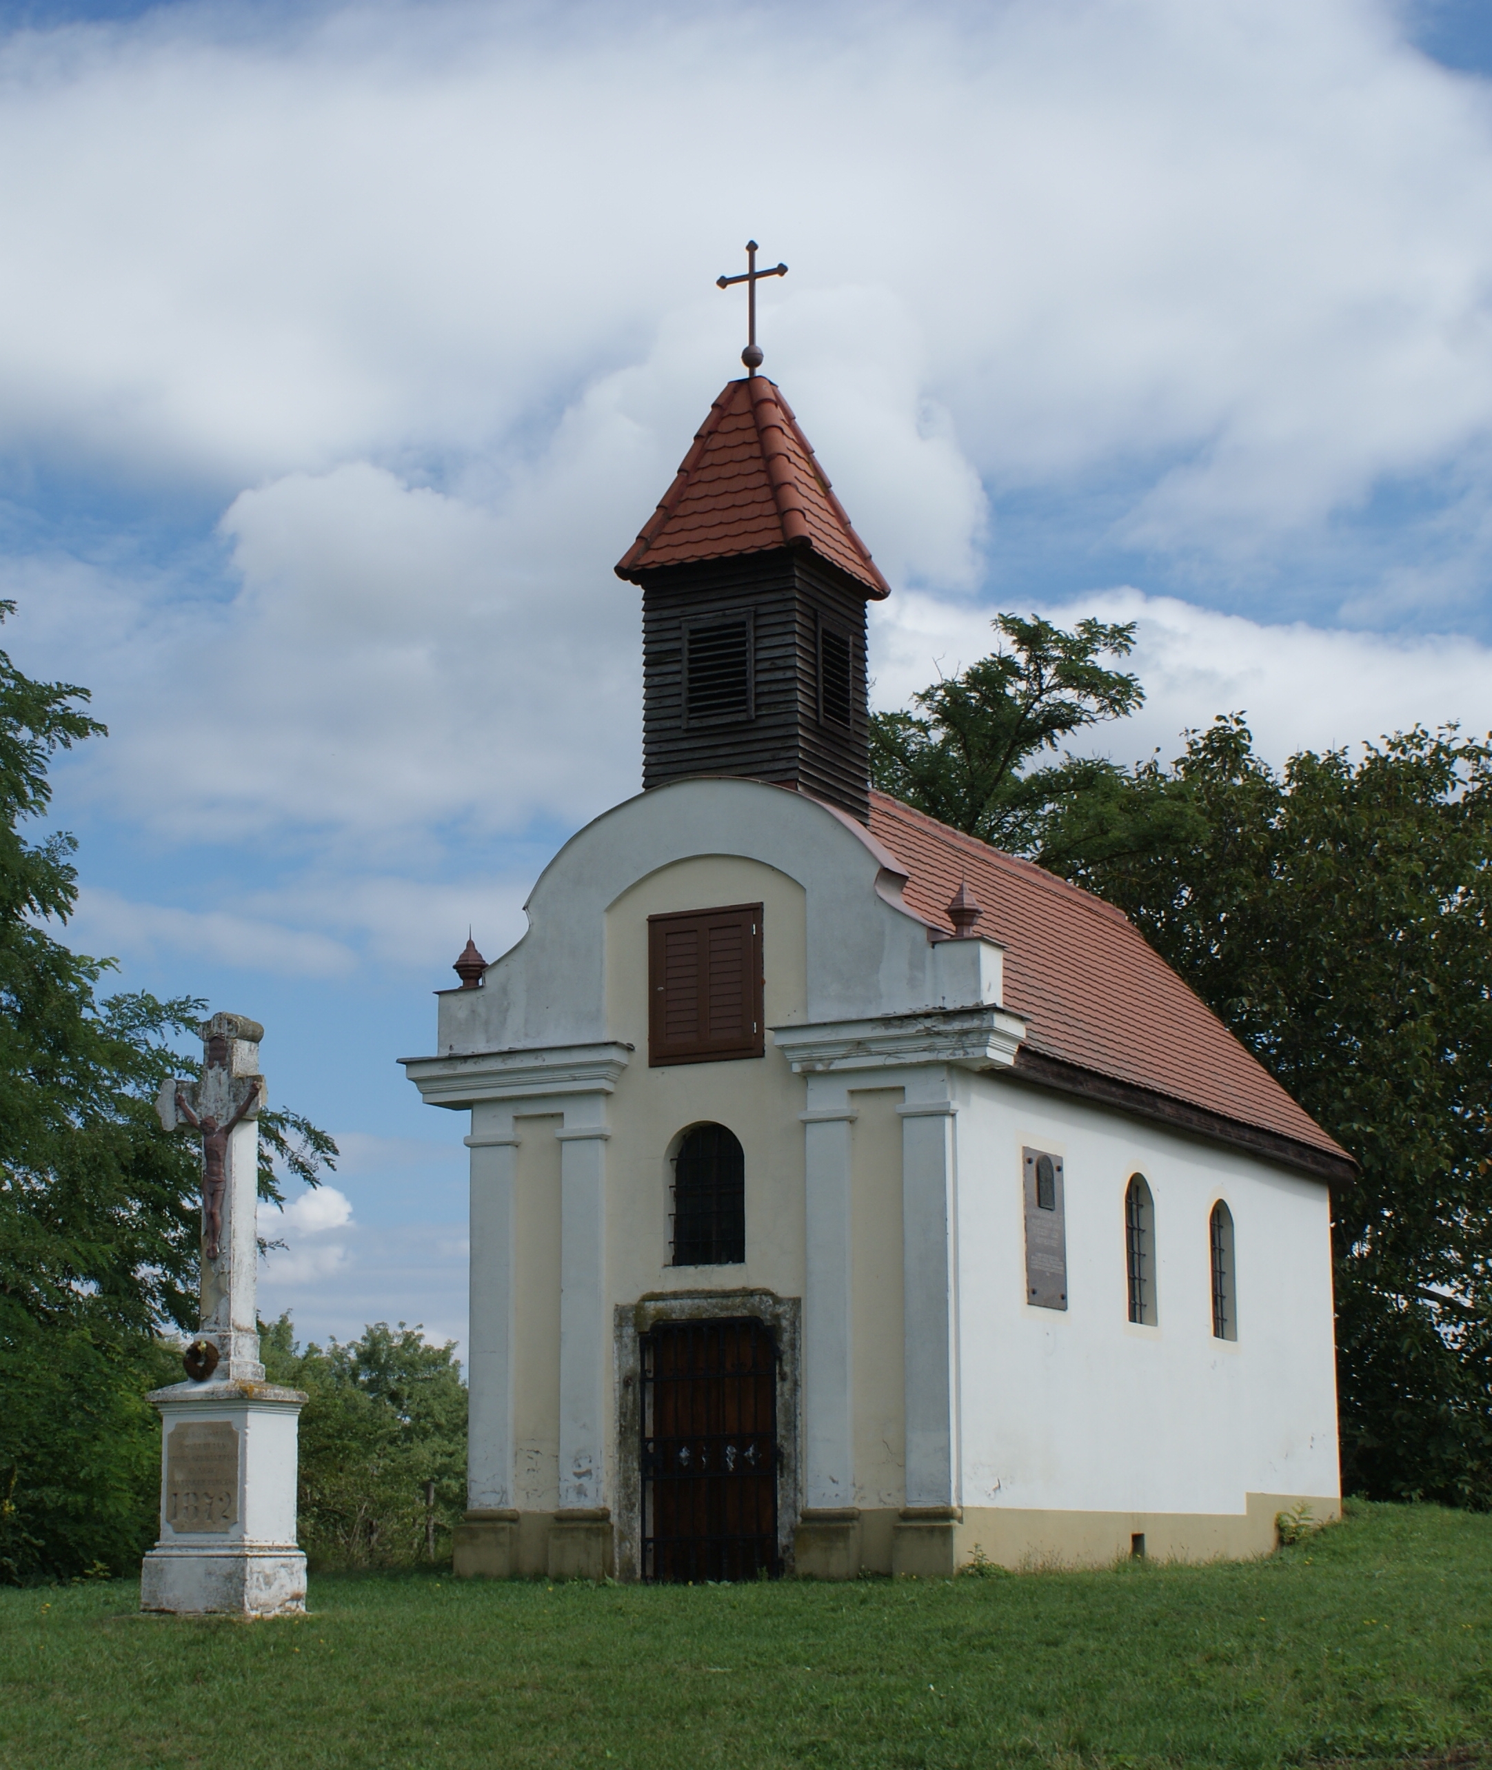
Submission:
[[[795,1531],[796,1574],[855,1579],[913,1574],[949,1579],[972,1561],[1014,1570],[1108,1566],[1143,1536],[1150,1561],[1241,1561],[1276,1545],[1274,1519],[1306,1504],[1326,1524],[1342,1501],[1319,1494],[1248,1494],[1246,1512],[1027,1512],[966,1506],[963,1513],[807,1513]],[[458,1579],[604,1579],[614,1526],[604,1512],[473,1512],[455,1531]]]

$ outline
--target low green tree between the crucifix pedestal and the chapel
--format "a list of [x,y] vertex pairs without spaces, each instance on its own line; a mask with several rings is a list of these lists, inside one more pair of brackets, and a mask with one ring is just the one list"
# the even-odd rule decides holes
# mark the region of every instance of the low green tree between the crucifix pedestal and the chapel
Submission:
[[455,1343],[373,1322],[359,1340],[299,1347],[288,1315],[262,1329],[262,1343],[269,1379],[308,1397],[299,1529],[311,1563],[411,1565],[427,1558],[432,1536],[444,1559],[465,1512],[467,1404]]

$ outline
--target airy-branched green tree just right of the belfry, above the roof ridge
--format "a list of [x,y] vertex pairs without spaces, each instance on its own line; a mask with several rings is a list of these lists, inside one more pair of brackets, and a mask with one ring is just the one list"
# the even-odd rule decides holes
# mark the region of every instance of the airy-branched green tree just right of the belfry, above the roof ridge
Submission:
[[1000,614],[991,625],[996,650],[913,696],[920,712],[871,715],[871,779],[940,823],[1027,851],[1053,807],[1101,766],[1027,763],[1074,731],[1133,713],[1145,690],[1101,662],[1129,655],[1133,621],[1085,620],[1071,634],[1035,614]]

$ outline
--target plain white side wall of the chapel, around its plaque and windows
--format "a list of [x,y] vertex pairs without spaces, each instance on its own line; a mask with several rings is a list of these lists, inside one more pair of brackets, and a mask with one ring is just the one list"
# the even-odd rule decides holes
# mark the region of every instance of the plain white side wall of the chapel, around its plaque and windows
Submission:
[[[1021,1150],[1065,1166],[1067,1310],[1025,1301]],[[1127,1320],[1124,1191],[1154,1195],[1159,1320]],[[1207,1221],[1235,1225],[1235,1342]],[[959,1110],[963,1504],[1242,1513],[1338,1494],[1327,1188],[1161,1126],[973,1078]]]

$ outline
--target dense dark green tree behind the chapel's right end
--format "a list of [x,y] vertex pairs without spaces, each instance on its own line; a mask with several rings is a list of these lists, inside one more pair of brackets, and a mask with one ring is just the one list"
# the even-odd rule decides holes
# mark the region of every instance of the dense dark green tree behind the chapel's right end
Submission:
[[1333,1197],[1350,1489],[1492,1504],[1492,749],[1241,717],[1101,768],[1039,858],[1119,904],[1361,1165]]

